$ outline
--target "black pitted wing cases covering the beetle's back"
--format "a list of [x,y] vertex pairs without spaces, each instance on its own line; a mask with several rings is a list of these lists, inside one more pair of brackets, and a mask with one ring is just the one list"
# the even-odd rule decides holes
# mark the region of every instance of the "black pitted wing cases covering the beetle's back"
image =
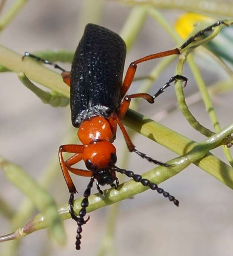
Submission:
[[86,25],[71,69],[72,124],[95,115],[108,117],[120,104],[126,46],[122,38],[98,25]]

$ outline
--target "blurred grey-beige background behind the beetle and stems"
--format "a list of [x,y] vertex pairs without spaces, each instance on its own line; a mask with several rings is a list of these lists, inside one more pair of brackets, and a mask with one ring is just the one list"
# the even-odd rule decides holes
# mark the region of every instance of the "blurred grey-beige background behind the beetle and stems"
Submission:
[[[3,14],[13,3],[13,0],[6,1]],[[7,28],[0,33],[0,42],[22,55],[24,51],[35,52],[55,48],[75,51],[86,23],[96,22],[120,33],[132,8],[133,6],[118,1],[28,1]],[[161,10],[161,13],[174,25],[175,20],[183,12]],[[131,61],[174,47],[176,43],[173,39],[152,17],[148,16],[127,54],[125,71]],[[229,51],[232,52],[232,49]],[[226,72],[213,60],[202,58],[200,55],[197,55],[195,60],[207,85],[227,79]],[[156,63],[157,60],[140,64],[137,76],[147,76]],[[173,76],[176,64],[177,61],[174,61],[160,75],[150,90],[151,94]],[[70,70],[70,64],[61,65]],[[183,75],[189,79],[188,86],[184,90],[185,96],[189,97],[198,89],[187,65]],[[1,73],[0,76],[1,155],[38,179],[51,159],[57,156],[59,146],[75,142],[71,141],[76,130],[71,125],[69,106],[52,108],[43,104],[20,83],[16,73]],[[141,83],[141,81],[135,82],[130,92],[137,92]],[[233,91],[212,98],[221,127],[226,127],[232,122],[232,97]],[[139,112],[160,120],[161,124],[192,140],[203,141],[205,137],[187,123],[179,109],[170,115],[161,115],[164,109],[173,106],[175,108],[176,101],[174,87],[171,86],[158,97],[154,105],[142,102]],[[201,124],[213,130],[202,101],[197,100],[190,106],[190,111]],[[133,138],[133,142],[138,150],[160,161],[167,161],[177,156],[140,134]],[[120,132],[117,134],[115,146],[118,150],[118,162],[122,163],[122,154],[125,153],[126,145]],[[227,163],[221,147],[213,150],[212,153]],[[79,164],[80,166],[82,164]],[[128,155],[128,170],[141,174],[153,167],[153,164],[137,155]],[[59,166],[56,168],[57,175],[48,190],[60,205],[68,201],[69,192]],[[88,179],[72,177],[81,195]],[[106,255],[232,255],[233,194],[230,188],[194,165],[190,165],[180,174],[162,183],[161,187],[179,199],[180,207],[174,207],[154,191],[146,191],[135,196],[134,199],[121,202],[118,205],[114,249]],[[95,193],[96,188],[93,188],[92,192]],[[24,199],[24,195],[9,183],[3,172],[0,172],[0,194],[15,211]],[[47,230],[40,230],[20,241],[16,255],[98,255],[102,238],[106,233],[108,210],[109,207],[105,207],[91,212],[90,221],[83,227],[82,248],[79,252],[75,250],[74,245],[76,224],[69,219],[64,222],[68,236],[66,246],[57,245],[50,239]],[[30,218],[35,214],[36,212],[33,212]],[[0,235],[11,231],[9,221],[0,216]],[[0,253],[7,252],[6,247],[9,244],[10,242],[1,243]],[[2,255],[6,256],[6,254]]]

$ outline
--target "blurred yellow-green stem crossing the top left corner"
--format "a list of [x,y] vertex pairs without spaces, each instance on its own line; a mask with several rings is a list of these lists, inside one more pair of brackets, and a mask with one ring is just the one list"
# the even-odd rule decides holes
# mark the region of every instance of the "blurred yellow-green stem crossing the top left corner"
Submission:
[[19,10],[27,3],[28,0],[16,0],[12,7],[5,13],[5,15],[0,19],[0,31],[4,29],[11,20],[17,15]]

